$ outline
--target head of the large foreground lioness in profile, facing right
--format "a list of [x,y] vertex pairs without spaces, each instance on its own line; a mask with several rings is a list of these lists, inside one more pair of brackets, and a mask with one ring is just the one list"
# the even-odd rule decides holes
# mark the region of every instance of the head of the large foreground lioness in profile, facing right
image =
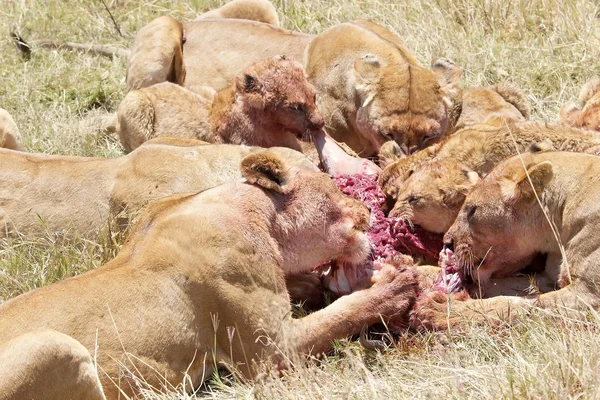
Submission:
[[330,260],[366,262],[371,213],[342,194],[329,175],[293,168],[268,150],[246,156],[242,175],[273,192],[283,216],[275,237],[289,257],[283,264],[286,273],[308,271]]

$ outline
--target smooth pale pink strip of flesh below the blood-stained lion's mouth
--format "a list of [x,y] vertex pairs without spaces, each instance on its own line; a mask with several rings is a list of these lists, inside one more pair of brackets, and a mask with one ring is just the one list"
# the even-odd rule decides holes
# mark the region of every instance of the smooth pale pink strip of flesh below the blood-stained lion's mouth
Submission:
[[350,156],[323,129],[313,133],[313,141],[319,153],[319,159],[327,173],[333,177],[341,175],[379,175],[381,168],[366,158]]

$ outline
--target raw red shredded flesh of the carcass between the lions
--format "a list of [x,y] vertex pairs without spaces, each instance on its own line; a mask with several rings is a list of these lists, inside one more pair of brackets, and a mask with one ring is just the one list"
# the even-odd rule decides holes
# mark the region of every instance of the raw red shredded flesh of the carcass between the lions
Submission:
[[403,253],[437,258],[442,247],[442,236],[420,227],[411,229],[398,218],[388,218],[381,210],[385,195],[377,185],[377,177],[369,174],[340,176],[334,179],[340,190],[371,209],[371,223],[367,235],[371,241],[371,257],[365,265],[338,265],[328,263],[325,285],[337,294],[348,294],[378,270],[377,264]]

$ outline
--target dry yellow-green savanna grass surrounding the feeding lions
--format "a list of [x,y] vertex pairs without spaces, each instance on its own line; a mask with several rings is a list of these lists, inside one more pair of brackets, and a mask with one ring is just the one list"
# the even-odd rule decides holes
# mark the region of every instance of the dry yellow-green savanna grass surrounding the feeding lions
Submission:
[[[190,20],[218,0],[0,0],[0,107],[15,118],[27,151],[114,157],[120,145],[98,134],[99,116],[123,97],[126,60],[69,51],[34,51],[25,61],[9,38],[53,38],[128,48],[137,29],[169,14]],[[464,68],[464,87],[516,83],[533,118],[554,122],[579,87],[600,73],[600,5],[570,0],[276,0],[284,27],[318,33],[367,18],[404,40],[430,65]],[[0,182],[1,184],[1,182]],[[96,268],[119,241],[11,240],[0,250],[0,297]],[[600,317],[585,321],[534,313],[511,326],[461,333],[405,334],[383,354],[340,341],[320,361],[284,379],[243,383],[220,372],[198,393],[215,398],[600,398]],[[187,398],[165,394],[161,398]],[[148,395],[148,398],[154,398]]]

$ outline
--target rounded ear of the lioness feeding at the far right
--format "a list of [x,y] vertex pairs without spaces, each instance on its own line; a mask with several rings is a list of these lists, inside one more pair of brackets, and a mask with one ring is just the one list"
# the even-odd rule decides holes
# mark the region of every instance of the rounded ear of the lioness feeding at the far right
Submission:
[[503,190],[505,200],[524,207],[531,207],[554,177],[552,163],[543,161],[521,170],[513,181],[511,190]]

